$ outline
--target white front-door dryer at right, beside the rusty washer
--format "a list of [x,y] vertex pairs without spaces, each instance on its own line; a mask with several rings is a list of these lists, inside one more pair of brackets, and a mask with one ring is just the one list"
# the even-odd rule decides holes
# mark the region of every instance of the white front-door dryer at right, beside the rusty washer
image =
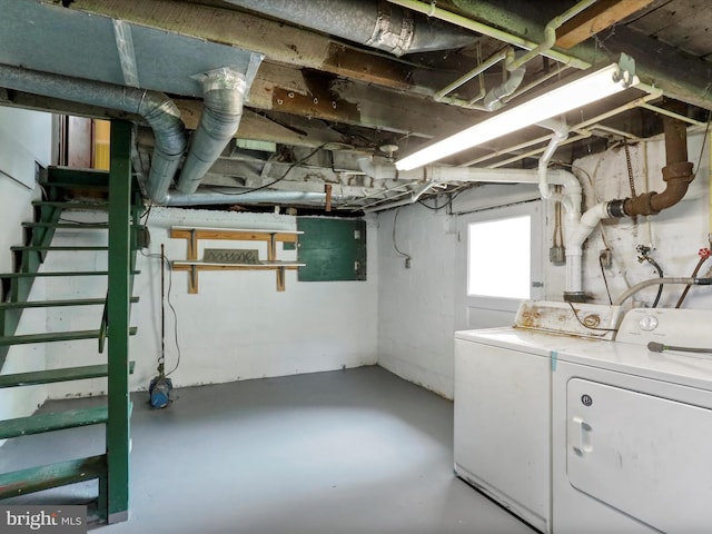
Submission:
[[556,355],[556,534],[712,532],[712,354],[649,342],[712,352],[712,312],[633,309],[605,350]]

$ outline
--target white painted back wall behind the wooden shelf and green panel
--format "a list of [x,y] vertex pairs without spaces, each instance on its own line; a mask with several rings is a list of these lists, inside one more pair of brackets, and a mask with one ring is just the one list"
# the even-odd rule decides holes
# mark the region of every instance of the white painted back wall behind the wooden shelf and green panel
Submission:
[[[76,212],[76,219],[102,218],[99,214]],[[286,290],[276,290],[274,271],[201,273],[199,293],[189,295],[186,273],[172,274],[170,301],[178,315],[178,344],[181,362],[171,375],[175,386],[214,384],[266,376],[291,375],[372,365],[377,360],[376,329],[378,324],[376,269],[376,233],[374,219],[367,222],[367,281],[299,283],[296,271],[287,271]],[[170,239],[171,226],[207,226],[226,228],[296,229],[296,219],[271,214],[239,214],[212,210],[154,208],[149,227],[150,251],[159,255],[165,244],[169,259],[185,259],[186,240]],[[96,240],[105,237],[96,233]],[[69,236],[57,235],[55,244]],[[73,241],[77,243],[77,241]],[[201,241],[202,244],[202,241]],[[255,241],[207,241],[214,248],[258,248],[265,258],[266,247]],[[201,254],[201,251],[200,251]],[[278,253],[283,259],[296,259],[296,251]],[[89,253],[83,268],[103,268],[103,254]],[[53,255],[48,268],[77,266],[78,255]],[[62,265],[65,263],[65,265]],[[156,375],[160,354],[160,259],[139,256],[141,274],[136,279],[135,294],[140,303],[134,305],[131,324],[139,327],[131,338],[131,355],[136,372],[132,389],[146,389]],[[170,274],[166,273],[166,288]],[[48,291],[50,289],[48,288]],[[51,289],[55,291],[55,289]],[[62,293],[80,296],[101,296],[106,283],[72,283]],[[57,298],[56,295],[52,298]],[[50,318],[52,328],[97,328],[100,308],[86,309],[68,316]],[[177,360],[176,329],[170,308],[166,305],[166,367]],[[85,343],[85,342],[81,342]],[[80,348],[78,348],[80,347]],[[89,364],[97,358],[92,342],[56,344],[49,348],[50,365],[71,362]],[[73,395],[99,395],[106,390],[105,380],[52,385],[53,398]]]

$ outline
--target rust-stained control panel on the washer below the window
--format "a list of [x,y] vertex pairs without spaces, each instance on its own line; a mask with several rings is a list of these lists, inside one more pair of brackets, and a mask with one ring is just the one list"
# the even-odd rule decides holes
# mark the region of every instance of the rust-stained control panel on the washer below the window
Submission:
[[610,340],[620,320],[620,306],[524,300],[514,327]]

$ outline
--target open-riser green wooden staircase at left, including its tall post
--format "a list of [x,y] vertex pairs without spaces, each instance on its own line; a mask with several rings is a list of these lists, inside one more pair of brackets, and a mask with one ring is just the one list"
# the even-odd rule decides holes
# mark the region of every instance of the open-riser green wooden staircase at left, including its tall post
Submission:
[[[28,417],[0,421],[0,439],[27,438],[33,434],[49,433],[88,425],[106,425],[106,454],[59,461],[10,473],[0,474],[0,500],[17,497],[52,487],[83,481],[98,479],[99,491],[90,503],[93,522],[119,522],[128,517],[128,454],[130,400],[128,375],[134,364],[128,359],[128,336],[136,334],[129,327],[130,304],[136,271],[136,250],[140,248],[139,231],[142,211],[141,196],[130,175],[129,123],[115,121],[111,126],[111,171],[89,171],[50,168],[42,184],[47,198],[34,201],[36,220],[24,222],[26,245],[12,247],[16,271],[0,274],[2,299],[0,300],[0,370],[11,347],[22,344],[48,344],[96,339],[97,352],[102,352],[105,336],[108,355],[98,356],[92,365],[65,368],[27,370],[0,374],[0,388],[18,388],[39,384],[107,378],[105,405],[59,413],[39,413]],[[91,201],[68,199],[71,194],[90,195]],[[96,198],[96,200],[95,200]],[[108,198],[108,200],[107,200]],[[79,224],[65,220],[62,214],[72,209],[105,210],[107,224]],[[67,217],[70,219],[70,217]],[[107,245],[52,246],[57,230],[76,233],[108,233]],[[80,239],[80,238],[78,238]],[[71,240],[71,239],[70,239]],[[46,271],[40,267],[48,255],[57,251],[81,255],[108,253],[108,270]],[[30,300],[33,281],[46,278],[46,285],[62,284],[75,277],[106,277],[106,298],[67,298]],[[66,283],[66,281],[65,281]],[[42,332],[18,335],[22,313],[32,308],[46,308],[47,314],[76,314],[76,309],[97,307],[97,328]],[[103,306],[103,314],[101,308]],[[59,309],[55,309],[59,308]],[[110,326],[110,327],[109,327]],[[110,454],[109,454],[110,453]],[[1,501],[0,501],[1,502]],[[61,504],[61,503],[57,503]]]

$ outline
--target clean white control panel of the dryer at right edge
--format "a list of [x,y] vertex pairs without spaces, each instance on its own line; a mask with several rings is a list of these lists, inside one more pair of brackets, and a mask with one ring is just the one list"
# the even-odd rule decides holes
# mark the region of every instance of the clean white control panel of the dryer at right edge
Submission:
[[615,340],[712,348],[712,310],[633,308],[623,317]]

